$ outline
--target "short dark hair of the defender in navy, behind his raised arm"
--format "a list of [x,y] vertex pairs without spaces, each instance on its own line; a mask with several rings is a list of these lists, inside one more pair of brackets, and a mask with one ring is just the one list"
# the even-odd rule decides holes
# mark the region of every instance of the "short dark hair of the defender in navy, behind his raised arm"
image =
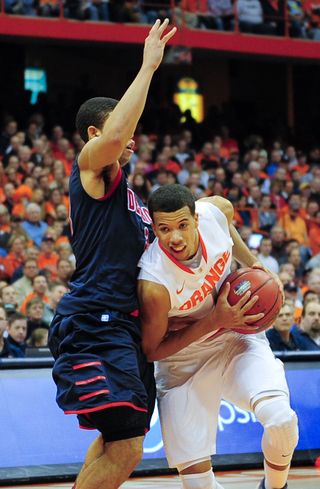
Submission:
[[107,97],[94,97],[84,102],[78,110],[76,127],[81,139],[88,142],[88,127],[94,126],[102,130],[105,121],[117,105],[118,100]]

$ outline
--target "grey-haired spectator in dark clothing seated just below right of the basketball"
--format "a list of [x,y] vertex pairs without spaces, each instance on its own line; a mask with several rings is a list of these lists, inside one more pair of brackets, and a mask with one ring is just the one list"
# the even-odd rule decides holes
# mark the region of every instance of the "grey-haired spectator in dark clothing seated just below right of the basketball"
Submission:
[[266,336],[273,351],[300,351],[304,344],[296,332],[291,332],[294,325],[294,308],[283,304],[273,327],[266,331]]

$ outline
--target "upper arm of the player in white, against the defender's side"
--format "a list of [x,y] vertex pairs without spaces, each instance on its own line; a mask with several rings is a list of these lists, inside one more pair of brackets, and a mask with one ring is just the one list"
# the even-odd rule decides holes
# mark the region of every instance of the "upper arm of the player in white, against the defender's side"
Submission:
[[138,296],[142,348],[148,357],[166,336],[170,295],[163,285],[138,280]]

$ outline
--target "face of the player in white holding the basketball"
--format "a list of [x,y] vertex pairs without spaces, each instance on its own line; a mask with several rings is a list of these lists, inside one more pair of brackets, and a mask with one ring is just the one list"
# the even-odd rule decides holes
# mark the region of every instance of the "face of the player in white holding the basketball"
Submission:
[[155,212],[153,229],[162,246],[176,260],[192,258],[199,246],[198,214],[191,215],[185,206],[175,212]]

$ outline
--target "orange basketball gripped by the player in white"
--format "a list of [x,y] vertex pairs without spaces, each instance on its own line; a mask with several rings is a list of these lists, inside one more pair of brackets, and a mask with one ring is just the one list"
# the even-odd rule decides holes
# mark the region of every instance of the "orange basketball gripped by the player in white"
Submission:
[[255,323],[248,323],[250,326],[255,326],[255,330],[248,332],[242,329],[237,329],[238,333],[250,334],[260,333],[272,326],[282,307],[282,294],[280,288],[270,275],[259,268],[240,268],[236,272],[231,273],[221,285],[218,297],[225,289],[226,283],[230,283],[230,292],[228,302],[231,306],[237,304],[241,297],[249,290],[250,298],[255,295],[259,296],[259,300],[246,313],[247,316],[264,313],[264,317]]

